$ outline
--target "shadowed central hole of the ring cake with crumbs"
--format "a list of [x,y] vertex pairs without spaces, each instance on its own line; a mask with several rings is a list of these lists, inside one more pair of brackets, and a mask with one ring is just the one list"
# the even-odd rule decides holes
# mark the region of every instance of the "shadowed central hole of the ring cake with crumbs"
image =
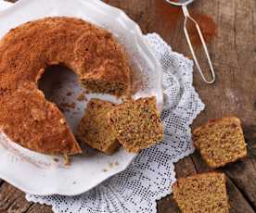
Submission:
[[38,88],[48,101],[58,106],[75,134],[86,106],[85,99],[77,100],[80,94],[85,93],[77,75],[63,66],[51,66],[39,79]]

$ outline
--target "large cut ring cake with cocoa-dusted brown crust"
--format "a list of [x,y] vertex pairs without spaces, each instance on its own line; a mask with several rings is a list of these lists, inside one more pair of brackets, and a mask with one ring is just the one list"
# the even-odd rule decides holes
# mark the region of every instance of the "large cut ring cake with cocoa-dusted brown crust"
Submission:
[[77,154],[81,149],[68,125],[58,124],[63,115],[37,88],[45,69],[57,64],[72,69],[81,81],[117,85],[116,90],[105,88],[112,94],[121,94],[129,87],[130,69],[111,34],[82,19],[35,20],[0,40],[1,130],[37,152]]

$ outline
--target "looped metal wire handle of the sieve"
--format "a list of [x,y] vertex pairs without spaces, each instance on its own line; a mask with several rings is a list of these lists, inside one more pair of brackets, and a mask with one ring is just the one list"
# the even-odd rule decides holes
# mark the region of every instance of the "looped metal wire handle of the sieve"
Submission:
[[[189,12],[188,12],[188,10],[187,10],[187,7],[186,7],[186,6],[182,6],[182,9],[183,9],[183,13],[184,13],[184,15],[185,15],[184,31],[185,31],[185,35],[186,35],[187,44],[189,45],[189,48],[190,48],[190,51],[191,51],[192,56],[193,56],[193,58],[194,58],[195,64],[196,64],[196,66],[197,66],[197,68],[198,68],[198,71],[199,71],[199,73],[200,73],[200,75],[201,75],[203,81],[205,81],[206,83],[211,84],[211,83],[213,83],[213,82],[215,81],[215,72],[214,72],[214,69],[213,69],[213,66],[212,66],[212,63],[211,63],[211,57],[210,57],[210,55],[209,55],[209,52],[208,52],[208,49],[207,49],[207,45],[205,44],[205,40],[204,40],[204,38],[203,38],[202,32],[201,32],[201,30],[200,30],[200,27],[199,27],[199,25],[198,25],[198,22],[197,22],[195,19],[193,19],[193,18],[189,15]],[[203,74],[203,72],[202,72],[202,69],[201,69],[200,66],[199,66],[198,58],[197,58],[197,56],[196,56],[196,54],[195,54],[193,45],[192,45],[191,40],[190,40],[189,33],[188,33],[187,29],[186,29],[186,23],[187,23],[187,20],[188,20],[188,19],[190,19],[190,20],[195,24],[195,26],[196,26],[196,28],[197,28],[198,35],[199,35],[201,44],[203,45],[203,49],[204,49],[205,55],[207,56],[207,60],[208,60],[208,63],[209,63],[210,69],[211,69],[211,77],[212,77],[211,81],[208,81],[208,80],[205,78],[205,76],[204,76],[204,74]]]

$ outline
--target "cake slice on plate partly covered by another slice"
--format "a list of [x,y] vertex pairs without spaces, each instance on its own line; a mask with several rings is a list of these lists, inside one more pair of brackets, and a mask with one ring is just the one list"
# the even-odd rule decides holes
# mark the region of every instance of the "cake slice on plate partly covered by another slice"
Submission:
[[78,127],[78,137],[91,147],[111,155],[118,147],[114,129],[109,125],[108,113],[114,104],[91,99]]

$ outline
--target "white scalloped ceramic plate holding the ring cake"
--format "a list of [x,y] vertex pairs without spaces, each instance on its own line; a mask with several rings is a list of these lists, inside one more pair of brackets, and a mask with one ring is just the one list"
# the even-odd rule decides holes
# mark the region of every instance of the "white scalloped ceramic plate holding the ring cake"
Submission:
[[[137,76],[142,80],[139,84],[143,86],[138,88],[134,98],[155,95],[159,109],[162,107],[160,65],[144,44],[142,32],[120,9],[99,0],[19,0],[0,12],[0,38],[21,23],[53,16],[85,19],[111,31],[124,45],[135,74],[139,74]],[[77,95],[83,90],[77,86],[76,76],[71,72],[61,73],[58,80],[61,79],[64,86],[55,90],[51,98],[58,102],[57,94],[67,94],[72,88],[72,94],[66,97],[66,101],[76,102],[76,107],[67,110],[65,116],[74,130],[87,101],[76,101]],[[91,96],[119,101],[110,95]],[[0,134],[0,178],[30,194],[82,194],[126,169],[135,156],[123,149],[112,156],[90,152],[89,155],[72,157],[70,167],[64,167],[60,157],[37,154]]]

